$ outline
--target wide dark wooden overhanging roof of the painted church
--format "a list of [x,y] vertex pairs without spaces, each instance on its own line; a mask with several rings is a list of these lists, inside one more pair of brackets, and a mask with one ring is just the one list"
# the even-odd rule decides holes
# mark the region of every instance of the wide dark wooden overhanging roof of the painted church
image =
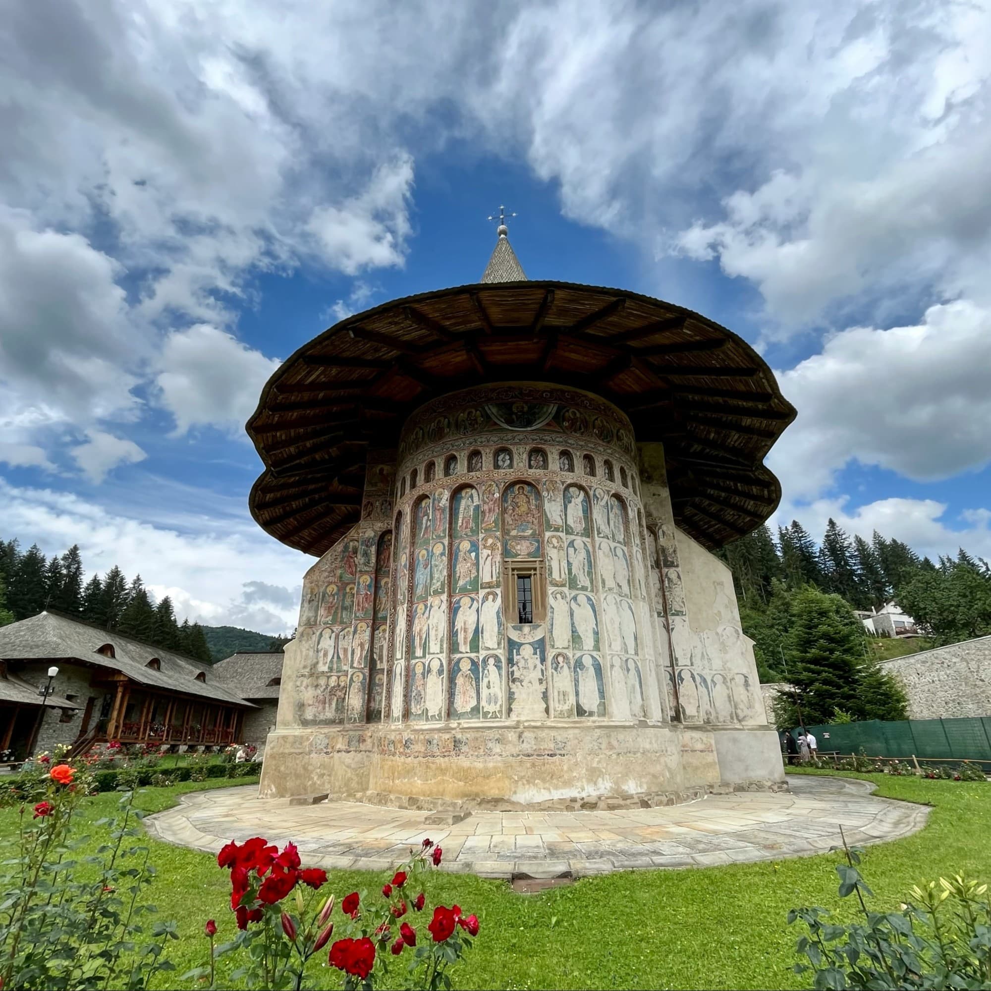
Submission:
[[265,463],[252,514],[322,554],[359,519],[366,452],[415,408],[472,385],[595,392],[662,441],[675,520],[709,548],[760,525],[781,497],[763,460],[795,408],[742,338],[650,296],[560,281],[483,282],[357,313],[295,352],[247,430]]

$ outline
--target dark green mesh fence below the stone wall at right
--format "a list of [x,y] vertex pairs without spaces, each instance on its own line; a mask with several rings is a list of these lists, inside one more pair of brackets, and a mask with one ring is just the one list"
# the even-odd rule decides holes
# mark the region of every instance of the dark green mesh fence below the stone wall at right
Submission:
[[[869,757],[913,755],[928,760],[991,761],[991,716],[965,719],[907,719],[840,722],[809,726],[821,752],[859,753]],[[798,728],[795,730],[798,737]]]

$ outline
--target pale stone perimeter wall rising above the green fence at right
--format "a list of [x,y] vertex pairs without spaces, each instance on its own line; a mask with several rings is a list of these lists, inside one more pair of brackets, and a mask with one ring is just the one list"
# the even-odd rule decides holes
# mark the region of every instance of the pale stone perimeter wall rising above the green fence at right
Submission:
[[991,636],[884,662],[909,697],[912,719],[991,716]]

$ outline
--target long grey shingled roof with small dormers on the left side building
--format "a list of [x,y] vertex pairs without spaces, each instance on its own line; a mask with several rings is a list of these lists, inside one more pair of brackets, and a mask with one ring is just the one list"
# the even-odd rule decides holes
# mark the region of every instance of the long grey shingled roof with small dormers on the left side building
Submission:
[[[101,652],[108,646],[112,656]],[[120,671],[140,685],[254,708],[208,664],[52,610],[0,627],[0,659],[76,661]],[[149,667],[152,660],[159,666]]]

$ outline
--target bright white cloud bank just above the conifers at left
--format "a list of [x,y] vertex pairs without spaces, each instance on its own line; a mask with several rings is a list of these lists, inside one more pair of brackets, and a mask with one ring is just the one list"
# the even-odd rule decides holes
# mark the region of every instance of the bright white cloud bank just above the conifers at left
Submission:
[[[188,616],[190,621],[274,634],[292,629],[300,582],[313,559],[264,533],[240,499],[188,489],[174,492],[163,480],[146,492],[155,490],[161,511],[151,502],[131,509],[166,523],[0,479],[4,537],[20,537],[23,544],[37,541],[46,554],[60,554],[77,543],[87,572],[104,573],[116,564],[129,578],[141,574],[157,598],[172,597],[179,621]],[[265,585],[269,593],[260,598],[254,583]]]

